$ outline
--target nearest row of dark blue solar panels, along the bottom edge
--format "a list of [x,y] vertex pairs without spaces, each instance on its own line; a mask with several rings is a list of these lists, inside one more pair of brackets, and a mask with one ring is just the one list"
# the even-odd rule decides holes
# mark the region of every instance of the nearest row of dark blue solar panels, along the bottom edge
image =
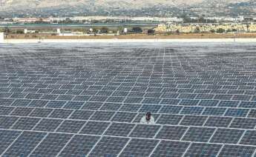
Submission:
[[235,144],[16,130],[0,130],[0,138],[3,156],[254,156],[256,149]]

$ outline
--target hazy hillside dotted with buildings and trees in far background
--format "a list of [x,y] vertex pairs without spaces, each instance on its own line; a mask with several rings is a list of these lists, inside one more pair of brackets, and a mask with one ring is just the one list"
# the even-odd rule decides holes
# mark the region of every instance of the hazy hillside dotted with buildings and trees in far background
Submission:
[[255,0],[0,0],[0,16],[235,16],[255,8]]

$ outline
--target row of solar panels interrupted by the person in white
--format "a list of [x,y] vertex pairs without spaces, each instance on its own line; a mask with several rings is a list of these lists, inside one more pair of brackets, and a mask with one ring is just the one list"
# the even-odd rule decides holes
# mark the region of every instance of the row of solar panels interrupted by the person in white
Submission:
[[[234,116],[196,116],[153,113],[157,124],[181,124],[191,126],[206,127],[233,127],[253,129],[256,124],[256,114],[249,115],[248,118]],[[119,122],[139,122],[145,113],[131,112],[111,112],[93,110],[64,110],[51,108],[33,107],[4,107],[0,108],[1,116],[28,116],[37,118],[69,118],[73,120],[93,120],[93,121],[119,121]],[[136,117],[136,118],[135,118]],[[3,121],[2,121],[3,122]]]

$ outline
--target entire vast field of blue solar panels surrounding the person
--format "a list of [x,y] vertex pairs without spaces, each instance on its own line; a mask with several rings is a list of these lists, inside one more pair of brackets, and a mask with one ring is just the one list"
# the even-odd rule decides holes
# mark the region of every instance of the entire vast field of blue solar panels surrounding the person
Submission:
[[[0,48],[0,156],[255,156],[256,44]],[[140,124],[151,112],[156,124]]]

